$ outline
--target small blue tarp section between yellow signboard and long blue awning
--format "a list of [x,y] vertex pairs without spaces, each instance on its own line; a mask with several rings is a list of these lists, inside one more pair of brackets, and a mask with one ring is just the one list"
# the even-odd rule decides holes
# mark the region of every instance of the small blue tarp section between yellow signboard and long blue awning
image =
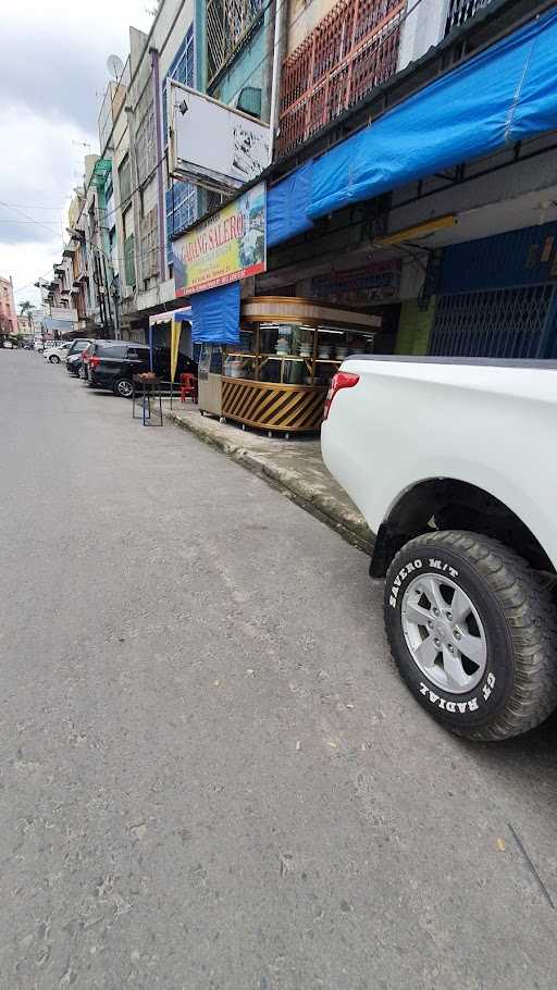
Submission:
[[313,225],[308,216],[313,162],[306,162],[267,194],[267,246],[273,247]]

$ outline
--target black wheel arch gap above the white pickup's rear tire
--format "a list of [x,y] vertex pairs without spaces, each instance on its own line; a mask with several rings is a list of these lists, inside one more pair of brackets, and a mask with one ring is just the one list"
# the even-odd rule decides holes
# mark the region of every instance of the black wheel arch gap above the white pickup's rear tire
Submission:
[[490,492],[453,478],[432,478],[407,488],[383,520],[370,573],[384,578],[398,550],[414,536],[435,530],[470,530],[517,549],[539,569],[555,571],[546,552],[525,523]]

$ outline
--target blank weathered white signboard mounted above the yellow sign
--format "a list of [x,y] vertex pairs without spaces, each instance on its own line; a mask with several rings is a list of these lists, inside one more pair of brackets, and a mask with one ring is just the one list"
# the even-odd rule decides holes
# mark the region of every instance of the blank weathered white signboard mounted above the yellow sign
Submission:
[[231,191],[267,169],[268,124],[174,79],[168,100],[170,171],[176,178]]

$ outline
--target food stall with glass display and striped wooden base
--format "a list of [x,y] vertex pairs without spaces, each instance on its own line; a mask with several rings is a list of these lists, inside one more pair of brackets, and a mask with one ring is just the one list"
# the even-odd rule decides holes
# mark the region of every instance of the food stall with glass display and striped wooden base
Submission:
[[270,433],[315,432],[333,374],[349,354],[371,352],[380,325],[297,296],[244,299],[239,345],[223,355],[222,417]]

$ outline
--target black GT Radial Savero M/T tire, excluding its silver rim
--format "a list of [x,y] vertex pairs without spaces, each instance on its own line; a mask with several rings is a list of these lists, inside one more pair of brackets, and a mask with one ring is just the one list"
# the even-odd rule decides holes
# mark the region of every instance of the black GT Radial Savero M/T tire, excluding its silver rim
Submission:
[[[473,603],[485,632],[485,670],[469,694],[435,686],[404,633],[405,589],[417,573],[438,578],[440,572],[456,572],[454,580]],[[475,741],[508,739],[533,729],[557,706],[557,608],[536,572],[498,541],[455,530],[411,540],[388,569],[384,616],[408,688],[451,732]]]

